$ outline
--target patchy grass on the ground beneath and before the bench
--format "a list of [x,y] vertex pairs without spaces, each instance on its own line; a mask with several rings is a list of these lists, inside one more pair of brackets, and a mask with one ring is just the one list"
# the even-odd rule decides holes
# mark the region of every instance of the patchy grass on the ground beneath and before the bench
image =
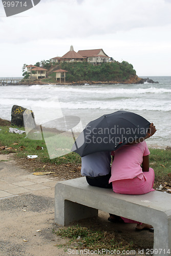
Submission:
[[68,227],[67,229],[59,229],[55,232],[57,236],[63,238],[70,238],[70,241],[67,244],[57,245],[67,246],[72,245],[76,248],[89,250],[130,250],[132,249],[132,243],[124,242],[122,239],[116,239],[114,233],[109,233],[103,230],[94,230],[93,228],[82,227],[80,225],[74,225]]

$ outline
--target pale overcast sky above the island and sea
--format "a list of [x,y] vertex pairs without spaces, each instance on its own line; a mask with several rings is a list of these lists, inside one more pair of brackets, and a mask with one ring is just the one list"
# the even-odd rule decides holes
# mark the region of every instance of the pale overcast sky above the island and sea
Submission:
[[132,63],[138,76],[171,76],[171,0],[41,0],[6,17],[0,1],[0,77],[24,63],[100,49]]

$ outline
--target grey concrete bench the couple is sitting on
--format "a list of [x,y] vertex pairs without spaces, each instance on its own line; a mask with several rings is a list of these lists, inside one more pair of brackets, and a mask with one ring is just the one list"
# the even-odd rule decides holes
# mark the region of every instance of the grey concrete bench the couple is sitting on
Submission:
[[[65,226],[94,217],[98,210],[150,224],[154,227],[154,255],[171,254],[171,196],[160,191],[145,195],[120,195],[112,189],[90,186],[85,177],[55,186],[55,223]],[[162,250],[160,250],[162,249]]]

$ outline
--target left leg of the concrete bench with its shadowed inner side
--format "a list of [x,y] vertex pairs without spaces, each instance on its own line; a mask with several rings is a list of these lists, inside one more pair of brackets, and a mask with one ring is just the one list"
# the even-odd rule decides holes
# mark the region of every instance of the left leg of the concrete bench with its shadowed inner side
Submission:
[[55,200],[55,223],[61,226],[69,225],[73,221],[98,216],[98,210],[74,203],[68,200]]

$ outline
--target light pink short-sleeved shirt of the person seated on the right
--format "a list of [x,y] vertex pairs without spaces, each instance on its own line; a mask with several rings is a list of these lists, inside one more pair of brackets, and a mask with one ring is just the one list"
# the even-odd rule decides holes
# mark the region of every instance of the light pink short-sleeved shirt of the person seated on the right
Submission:
[[140,165],[143,157],[149,154],[145,141],[134,145],[124,145],[115,152],[112,151],[111,155],[115,157],[112,163],[112,175],[109,183],[116,180],[133,179],[137,176],[142,179],[143,173]]

